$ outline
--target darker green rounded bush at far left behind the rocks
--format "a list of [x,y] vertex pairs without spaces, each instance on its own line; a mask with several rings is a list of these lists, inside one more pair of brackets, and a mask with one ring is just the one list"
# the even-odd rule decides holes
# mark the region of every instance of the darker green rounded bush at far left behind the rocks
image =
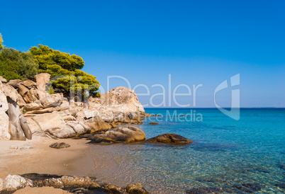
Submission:
[[10,79],[33,79],[38,74],[38,64],[28,52],[4,47],[0,51],[0,75]]

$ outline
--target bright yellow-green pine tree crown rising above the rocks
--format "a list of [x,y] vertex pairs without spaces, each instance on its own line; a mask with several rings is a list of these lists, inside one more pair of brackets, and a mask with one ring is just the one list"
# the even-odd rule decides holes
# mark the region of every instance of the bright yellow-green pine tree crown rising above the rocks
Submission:
[[84,67],[82,57],[52,50],[43,45],[31,47],[30,53],[38,63],[40,73],[51,75],[50,84],[52,84],[53,91],[62,92],[65,96],[79,96],[82,99],[88,94],[93,97],[101,96],[99,92],[96,92],[100,86],[96,76],[79,70]]

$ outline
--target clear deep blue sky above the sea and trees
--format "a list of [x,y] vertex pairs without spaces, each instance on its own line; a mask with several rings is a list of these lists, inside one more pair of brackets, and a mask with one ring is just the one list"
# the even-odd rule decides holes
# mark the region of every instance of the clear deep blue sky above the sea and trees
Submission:
[[[172,90],[203,84],[196,106],[213,107],[216,86],[240,73],[242,107],[285,107],[285,1],[1,1],[0,33],[21,51],[43,44],[79,55],[104,89],[120,75],[153,94],[172,74]],[[177,99],[193,107],[191,96]],[[230,89],[217,103],[230,106]]]

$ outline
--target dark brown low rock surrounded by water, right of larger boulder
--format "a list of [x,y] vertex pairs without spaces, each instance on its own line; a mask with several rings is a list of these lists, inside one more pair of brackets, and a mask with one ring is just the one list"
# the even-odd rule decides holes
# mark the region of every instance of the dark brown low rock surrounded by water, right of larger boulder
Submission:
[[176,135],[173,133],[166,133],[164,135],[158,135],[151,139],[147,139],[145,142],[148,143],[164,143],[164,144],[189,144],[193,141],[182,137],[181,135]]

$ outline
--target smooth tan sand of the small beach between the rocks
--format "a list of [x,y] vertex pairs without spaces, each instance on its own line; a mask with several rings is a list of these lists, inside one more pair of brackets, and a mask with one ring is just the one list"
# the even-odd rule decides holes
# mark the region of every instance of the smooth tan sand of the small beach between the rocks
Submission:
[[[65,142],[69,148],[53,149],[50,144]],[[50,173],[57,175],[72,174],[67,161],[84,159],[88,161],[89,149],[84,139],[50,139],[47,137],[33,137],[26,141],[0,140],[0,178],[11,174]],[[16,146],[18,149],[10,149]],[[33,149],[19,149],[23,146],[33,146]],[[92,161],[92,159],[90,159]],[[80,164],[77,164],[79,167]],[[86,166],[82,166],[86,167]],[[71,173],[71,174],[70,174]]]

